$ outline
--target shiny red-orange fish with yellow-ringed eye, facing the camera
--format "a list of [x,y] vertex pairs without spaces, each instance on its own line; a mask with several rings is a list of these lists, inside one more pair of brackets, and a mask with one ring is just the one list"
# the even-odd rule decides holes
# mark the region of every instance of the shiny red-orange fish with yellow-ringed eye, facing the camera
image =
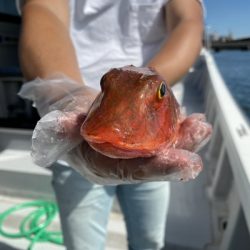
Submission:
[[128,159],[183,144],[180,137],[184,139],[190,122],[183,121],[171,88],[153,69],[111,69],[102,77],[101,88],[81,127],[81,135],[96,151]]

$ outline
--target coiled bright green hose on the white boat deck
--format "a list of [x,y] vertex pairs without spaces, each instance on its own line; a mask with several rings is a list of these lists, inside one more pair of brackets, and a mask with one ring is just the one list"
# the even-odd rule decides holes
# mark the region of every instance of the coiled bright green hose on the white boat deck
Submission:
[[[10,233],[3,229],[5,220],[13,213],[20,210],[36,208],[21,221],[19,232]],[[0,235],[8,238],[26,238],[30,241],[27,248],[32,250],[37,242],[51,242],[57,245],[63,245],[63,237],[61,232],[47,231],[46,228],[53,221],[58,213],[56,203],[50,201],[32,201],[16,205],[2,214],[0,214]]]

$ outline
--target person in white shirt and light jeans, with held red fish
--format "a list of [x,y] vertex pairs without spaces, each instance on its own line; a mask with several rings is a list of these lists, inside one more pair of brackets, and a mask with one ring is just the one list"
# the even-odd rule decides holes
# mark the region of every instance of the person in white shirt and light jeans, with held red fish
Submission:
[[29,81],[20,95],[42,117],[32,156],[53,172],[65,246],[104,249],[117,195],[129,249],[161,249],[167,181],[198,175],[194,151],[211,134],[202,114],[181,114],[171,91],[200,53],[202,2],[17,4]]

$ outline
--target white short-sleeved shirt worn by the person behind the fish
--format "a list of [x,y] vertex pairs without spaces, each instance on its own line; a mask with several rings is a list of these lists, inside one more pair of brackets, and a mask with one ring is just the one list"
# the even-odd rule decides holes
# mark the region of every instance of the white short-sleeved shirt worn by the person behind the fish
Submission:
[[99,89],[110,68],[147,64],[166,39],[168,1],[69,0],[71,37],[87,85]]

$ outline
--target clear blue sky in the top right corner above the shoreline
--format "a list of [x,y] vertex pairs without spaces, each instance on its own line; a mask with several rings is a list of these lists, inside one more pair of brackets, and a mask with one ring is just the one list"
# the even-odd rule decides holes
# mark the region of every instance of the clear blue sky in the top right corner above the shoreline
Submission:
[[250,37],[249,0],[203,0],[207,16],[208,32],[227,35],[232,32],[236,38]]

